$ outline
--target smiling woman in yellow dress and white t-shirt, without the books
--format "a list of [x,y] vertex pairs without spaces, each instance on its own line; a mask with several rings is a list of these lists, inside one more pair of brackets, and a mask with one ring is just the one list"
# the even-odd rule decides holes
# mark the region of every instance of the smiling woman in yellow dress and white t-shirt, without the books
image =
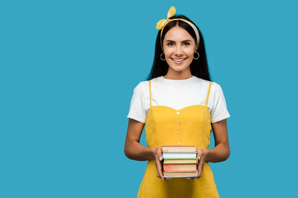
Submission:
[[[138,198],[219,198],[208,162],[229,157],[230,115],[221,86],[210,80],[199,28],[175,13],[171,7],[156,25],[154,62],[148,81],[134,89],[125,154],[149,161]],[[144,126],[148,147],[139,143]],[[215,148],[208,149],[211,131]],[[195,145],[198,177],[165,180],[161,145]]]

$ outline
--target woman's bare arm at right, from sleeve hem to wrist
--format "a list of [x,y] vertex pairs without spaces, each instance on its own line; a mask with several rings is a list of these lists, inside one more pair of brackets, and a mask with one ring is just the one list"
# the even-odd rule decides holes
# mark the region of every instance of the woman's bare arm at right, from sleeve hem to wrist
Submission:
[[212,130],[215,140],[215,148],[204,149],[206,161],[221,162],[225,161],[230,155],[226,119],[212,124]]

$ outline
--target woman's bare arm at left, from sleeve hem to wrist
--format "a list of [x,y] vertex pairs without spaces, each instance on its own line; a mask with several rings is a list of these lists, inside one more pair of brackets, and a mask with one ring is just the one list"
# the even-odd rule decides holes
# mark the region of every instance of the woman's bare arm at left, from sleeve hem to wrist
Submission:
[[129,119],[124,153],[128,158],[133,160],[154,160],[156,148],[147,148],[140,144],[143,128],[144,123],[134,119]]

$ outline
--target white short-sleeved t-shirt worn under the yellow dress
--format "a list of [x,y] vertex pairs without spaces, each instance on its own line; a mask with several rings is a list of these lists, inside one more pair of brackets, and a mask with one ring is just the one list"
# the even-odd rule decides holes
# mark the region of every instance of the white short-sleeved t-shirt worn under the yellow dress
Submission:
[[[192,76],[185,80],[170,80],[162,76],[151,80],[152,106],[163,105],[173,109],[182,109],[191,105],[205,105],[210,81]],[[211,113],[211,122],[230,117],[221,86],[211,85],[207,107]],[[145,123],[150,108],[149,82],[140,82],[134,89],[128,118]]]

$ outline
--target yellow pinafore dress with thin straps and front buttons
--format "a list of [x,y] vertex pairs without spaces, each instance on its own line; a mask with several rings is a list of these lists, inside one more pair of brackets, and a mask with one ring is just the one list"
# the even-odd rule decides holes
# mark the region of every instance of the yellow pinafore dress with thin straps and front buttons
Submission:
[[[207,107],[210,82],[205,105],[192,105],[176,110],[167,106],[152,106],[149,81],[150,108],[146,117],[145,134],[148,147],[161,145],[195,145],[208,148],[210,144],[211,114]],[[155,161],[148,162],[138,198],[219,198],[212,170],[205,162],[201,177],[196,180],[156,176]]]

